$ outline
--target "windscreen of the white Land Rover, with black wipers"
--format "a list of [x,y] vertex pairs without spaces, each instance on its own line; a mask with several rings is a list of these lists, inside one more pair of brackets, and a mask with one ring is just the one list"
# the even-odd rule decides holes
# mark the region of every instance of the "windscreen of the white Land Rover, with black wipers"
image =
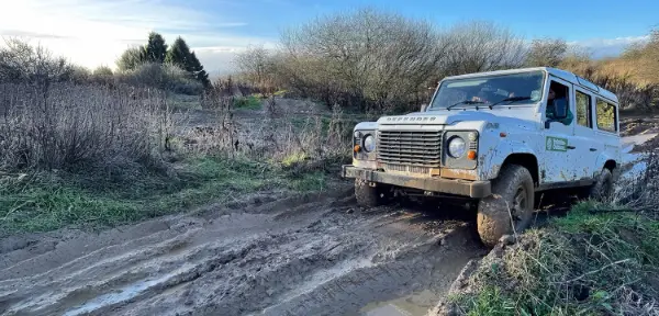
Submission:
[[445,80],[429,110],[537,102],[543,80],[541,71]]

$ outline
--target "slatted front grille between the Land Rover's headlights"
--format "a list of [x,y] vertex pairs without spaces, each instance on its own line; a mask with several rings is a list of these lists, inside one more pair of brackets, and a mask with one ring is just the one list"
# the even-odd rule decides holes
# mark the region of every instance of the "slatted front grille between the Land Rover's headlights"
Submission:
[[437,168],[442,131],[378,131],[378,161]]

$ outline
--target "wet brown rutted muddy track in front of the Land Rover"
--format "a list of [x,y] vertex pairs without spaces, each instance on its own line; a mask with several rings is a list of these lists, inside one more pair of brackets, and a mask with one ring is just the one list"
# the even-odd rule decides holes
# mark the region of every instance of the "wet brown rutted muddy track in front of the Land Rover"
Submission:
[[0,314],[364,315],[413,293],[425,311],[483,255],[472,224],[443,212],[360,210],[350,190],[258,200],[2,240]]

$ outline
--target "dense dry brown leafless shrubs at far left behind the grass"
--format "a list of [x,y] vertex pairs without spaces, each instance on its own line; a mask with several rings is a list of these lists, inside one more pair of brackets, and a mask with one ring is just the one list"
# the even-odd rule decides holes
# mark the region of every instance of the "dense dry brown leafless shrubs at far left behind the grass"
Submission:
[[171,117],[158,90],[57,83],[43,93],[5,83],[0,91],[4,170],[153,165],[169,139]]

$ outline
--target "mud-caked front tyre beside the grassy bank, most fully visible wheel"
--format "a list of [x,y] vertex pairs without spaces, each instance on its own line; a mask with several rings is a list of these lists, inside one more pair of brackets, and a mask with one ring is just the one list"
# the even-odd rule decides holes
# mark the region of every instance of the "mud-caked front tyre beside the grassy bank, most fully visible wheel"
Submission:
[[492,182],[492,195],[478,203],[477,226],[481,241],[492,248],[504,235],[520,234],[533,218],[535,192],[530,172],[505,166]]

